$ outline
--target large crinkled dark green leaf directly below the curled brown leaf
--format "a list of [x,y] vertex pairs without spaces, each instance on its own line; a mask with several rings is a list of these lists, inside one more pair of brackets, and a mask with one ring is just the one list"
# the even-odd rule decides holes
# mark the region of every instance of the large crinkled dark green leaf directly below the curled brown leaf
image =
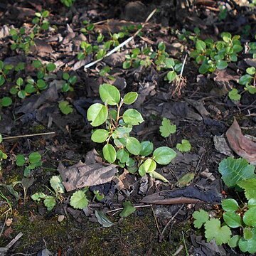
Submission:
[[218,171],[222,174],[222,179],[228,187],[237,185],[238,181],[255,177],[255,166],[248,164],[245,159],[241,158],[228,157],[223,159],[219,164]]

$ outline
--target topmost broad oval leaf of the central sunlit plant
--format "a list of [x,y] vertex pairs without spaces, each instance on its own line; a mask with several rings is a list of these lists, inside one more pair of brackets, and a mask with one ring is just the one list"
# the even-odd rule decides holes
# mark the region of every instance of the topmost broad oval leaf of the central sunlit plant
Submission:
[[102,102],[108,105],[118,105],[120,92],[117,87],[105,83],[100,85],[99,92]]

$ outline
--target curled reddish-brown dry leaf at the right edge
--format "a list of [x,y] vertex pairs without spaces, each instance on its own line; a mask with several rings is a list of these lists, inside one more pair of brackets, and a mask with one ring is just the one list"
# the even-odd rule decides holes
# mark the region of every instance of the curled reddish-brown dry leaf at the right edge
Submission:
[[250,164],[256,165],[256,143],[247,139],[242,134],[241,128],[235,118],[233,124],[226,132],[226,136],[231,149],[236,154],[249,161]]

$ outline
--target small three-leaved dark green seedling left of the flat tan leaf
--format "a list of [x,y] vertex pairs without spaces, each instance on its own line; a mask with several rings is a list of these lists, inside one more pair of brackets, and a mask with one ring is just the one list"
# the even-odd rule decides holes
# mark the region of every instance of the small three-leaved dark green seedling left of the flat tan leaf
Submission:
[[18,154],[16,156],[16,165],[25,166],[23,171],[23,176],[28,177],[31,175],[31,170],[36,169],[37,167],[42,166],[43,162],[41,161],[41,154],[38,152],[33,152],[29,154],[26,158],[23,154]]

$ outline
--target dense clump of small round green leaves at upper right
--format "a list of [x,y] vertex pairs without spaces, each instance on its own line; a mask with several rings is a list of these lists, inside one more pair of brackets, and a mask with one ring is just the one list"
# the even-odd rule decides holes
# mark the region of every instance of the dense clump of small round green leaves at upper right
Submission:
[[232,36],[228,32],[220,36],[222,41],[214,42],[211,38],[196,41],[196,49],[191,51],[190,56],[201,65],[199,73],[212,73],[216,68],[223,70],[228,63],[238,60],[238,53],[242,50],[240,36]]

